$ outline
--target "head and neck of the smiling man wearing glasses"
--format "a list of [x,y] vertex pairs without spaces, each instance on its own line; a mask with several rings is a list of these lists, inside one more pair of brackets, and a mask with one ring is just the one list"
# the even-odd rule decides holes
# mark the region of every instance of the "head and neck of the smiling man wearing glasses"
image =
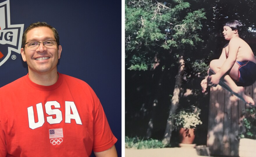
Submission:
[[57,63],[62,47],[53,32],[49,27],[36,27],[26,30],[22,38],[22,59],[28,64],[30,80],[39,85],[53,85],[58,80]]

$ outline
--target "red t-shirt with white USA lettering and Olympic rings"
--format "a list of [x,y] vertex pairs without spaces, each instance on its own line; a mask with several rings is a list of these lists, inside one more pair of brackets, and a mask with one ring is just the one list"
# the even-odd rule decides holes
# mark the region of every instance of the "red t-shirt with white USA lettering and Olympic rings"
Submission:
[[0,88],[0,156],[90,156],[116,143],[91,87],[58,74],[51,86],[27,74]]

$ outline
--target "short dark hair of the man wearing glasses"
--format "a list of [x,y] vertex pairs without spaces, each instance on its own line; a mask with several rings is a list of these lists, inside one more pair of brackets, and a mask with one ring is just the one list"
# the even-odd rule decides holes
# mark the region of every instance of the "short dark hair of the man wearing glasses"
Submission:
[[21,43],[22,48],[25,47],[25,43],[26,43],[26,40],[27,40],[27,33],[29,32],[29,30],[31,30],[33,28],[36,28],[36,27],[48,27],[48,28],[50,28],[53,31],[55,40],[57,41],[57,47],[60,45],[60,37],[59,37],[59,34],[58,34],[57,30],[54,27],[52,27],[51,25],[48,25],[46,22],[36,22],[36,23],[31,23],[29,25],[29,27],[26,28],[26,30],[23,32],[22,43]]

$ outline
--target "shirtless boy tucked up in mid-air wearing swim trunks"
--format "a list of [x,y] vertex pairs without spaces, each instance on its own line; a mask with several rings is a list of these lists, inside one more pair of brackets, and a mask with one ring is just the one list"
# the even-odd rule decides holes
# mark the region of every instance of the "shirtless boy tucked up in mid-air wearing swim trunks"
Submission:
[[223,35],[229,40],[219,59],[210,62],[208,76],[202,80],[202,92],[208,85],[221,85],[245,103],[255,105],[250,96],[244,94],[244,87],[256,80],[256,59],[250,46],[239,37],[242,24],[237,20],[225,23]]

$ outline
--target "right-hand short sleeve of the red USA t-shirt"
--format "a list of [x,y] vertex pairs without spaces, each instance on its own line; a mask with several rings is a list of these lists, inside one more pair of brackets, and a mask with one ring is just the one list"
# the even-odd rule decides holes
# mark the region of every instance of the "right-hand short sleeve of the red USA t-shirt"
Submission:
[[117,138],[111,132],[103,107],[98,100],[98,107],[94,115],[93,151],[100,152],[111,148]]

